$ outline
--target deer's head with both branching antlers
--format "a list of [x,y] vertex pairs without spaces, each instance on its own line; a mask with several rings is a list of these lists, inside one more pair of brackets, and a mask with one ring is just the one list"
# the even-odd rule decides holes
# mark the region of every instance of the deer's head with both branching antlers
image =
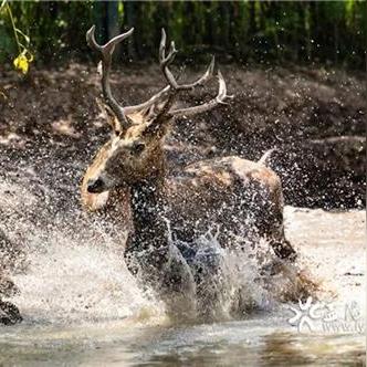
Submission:
[[193,107],[174,108],[179,93],[202,86],[212,77],[214,59],[211,60],[206,73],[196,82],[179,84],[169,70],[177,50],[175,43],[171,42],[168,54],[166,54],[166,32],[162,30],[159,65],[168,85],[141,104],[135,106],[118,104],[109,85],[112,55],[115,45],[128,38],[133,31],[134,29],[130,29],[128,32],[115,36],[105,45],[96,43],[94,25],[86,33],[88,45],[102,56],[104,102],[98,102],[98,104],[113,128],[111,140],[98,151],[91,166],[93,169],[88,174],[86,190],[92,193],[129,187],[141,180],[161,177],[165,166],[162,143],[171,122],[180,116],[192,116],[209,111],[223,104],[228,97],[226,82],[218,71],[219,92],[216,98]]

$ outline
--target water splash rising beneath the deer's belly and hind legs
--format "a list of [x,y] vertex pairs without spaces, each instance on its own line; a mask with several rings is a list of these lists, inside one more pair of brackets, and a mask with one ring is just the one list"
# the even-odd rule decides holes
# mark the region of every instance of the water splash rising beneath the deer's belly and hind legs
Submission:
[[[245,251],[223,249],[218,241],[220,228],[209,229],[195,242],[187,243],[169,233],[169,260],[164,273],[175,274],[179,286],[165,294],[171,318],[187,321],[223,321],[243,318],[254,311],[270,310],[277,295],[270,292],[264,271],[276,258],[265,240]],[[167,287],[166,280],[162,281]]]

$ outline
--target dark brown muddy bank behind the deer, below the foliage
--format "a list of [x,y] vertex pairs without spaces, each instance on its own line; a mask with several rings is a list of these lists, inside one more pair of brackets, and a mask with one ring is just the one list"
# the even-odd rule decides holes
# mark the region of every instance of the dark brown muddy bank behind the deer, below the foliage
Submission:
[[[364,74],[238,66],[222,71],[234,97],[217,111],[176,123],[167,140],[172,171],[213,156],[259,159],[276,148],[270,165],[283,179],[286,203],[326,209],[365,205]],[[192,78],[195,72],[186,74]],[[2,175],[20,157],[33,156],[38,168],[51,157],[61,162],[73,157],[81,176],[109,134],[94,103],[99,93],[95,66],[33,71],[25,81],[1,71],[0,77]],[[144,65],[116,71],[112,82],[127,104],[145,101],[164,85],[157,67]],[[213,81],[184,95],[182,105],[200,103],[216,88]]]

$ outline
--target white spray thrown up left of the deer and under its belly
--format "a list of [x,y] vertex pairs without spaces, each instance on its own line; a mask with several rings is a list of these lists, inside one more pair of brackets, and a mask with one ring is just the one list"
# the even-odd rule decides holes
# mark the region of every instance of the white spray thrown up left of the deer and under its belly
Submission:
[[[65,171],[60,175],[64,178]],[[217,228],[193,244],[170,235],[167,266],[179,268],[186,282],[178,297],[162,303],[126,269],[126,233],[117,233],[108,220],[85,216],[75,188],[54,178],[48,185],[27,167],[21,174],[9,172],[0,190],[0,229],[22,254],[11,274],[20,293],[11,301],[25,322],[162,322],[167,313],[172,319],[229,319],[276,304],[269,290],[272,274],[265,271],[274,255],[265,241],[234,251],[221,248]],[[189,261],[182,255],[188,247],[195,249]]]

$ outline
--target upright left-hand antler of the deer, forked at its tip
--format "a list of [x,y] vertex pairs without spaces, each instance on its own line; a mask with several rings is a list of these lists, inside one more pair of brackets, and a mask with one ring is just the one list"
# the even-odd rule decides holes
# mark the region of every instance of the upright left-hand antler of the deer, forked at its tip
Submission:
[[132,28],[126,33],[122,33],[116,35],[112,40],[109,40],[106,44],[101,45],[95,40],[95,25],[93,25],[86,32],[86,42],[91,46],[91,49],[101,52],[102,54],[102,90],[103,96],[107,102],[107,105],[112,108],[112,111],[116,114],[120,124],[126,128],[128,127],[128,122],[124,112],[124,108],[117,103],[115,97],[112,95],[111,85],[109,85],[109,72],[111,72],[111,64],[112,64],[112,55],[115,51],[115,45],[134,32],[134,28]]

